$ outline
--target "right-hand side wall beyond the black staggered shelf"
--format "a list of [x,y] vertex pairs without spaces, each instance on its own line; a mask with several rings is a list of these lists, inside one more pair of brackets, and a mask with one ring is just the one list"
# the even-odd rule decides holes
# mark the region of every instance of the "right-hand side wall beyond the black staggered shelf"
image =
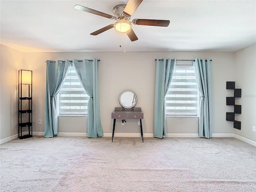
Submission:
[[236,104],[242,105],[242,114],[236,116],[241,121],[241,130],[234,133],[256,141],[256,44],[234,53],[236,67],[236,88],[242,89],[242,97]]

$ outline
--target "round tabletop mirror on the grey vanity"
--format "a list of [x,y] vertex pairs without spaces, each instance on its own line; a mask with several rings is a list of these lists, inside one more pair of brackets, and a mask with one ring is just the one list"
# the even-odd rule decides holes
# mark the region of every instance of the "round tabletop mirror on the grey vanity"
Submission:
[[120,94],[119,102],[124,108],[132,108],[137,103],[137,96],[134,92],[127,90]]

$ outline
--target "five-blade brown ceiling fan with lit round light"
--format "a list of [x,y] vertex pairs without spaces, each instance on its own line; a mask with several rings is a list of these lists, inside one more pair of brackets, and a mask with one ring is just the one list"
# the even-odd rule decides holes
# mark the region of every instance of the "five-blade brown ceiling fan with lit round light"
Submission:
[[106,30],[111,28],[115,28],[119,32],[126,33],[131,41],[138,40],[138,37],[132,30],[132,24],[134,25],[147,25],[147,26],[160,26],[160,27],[167,27],[170,24],[169,20],[153,20],[153,19],[134,19],[129,21],[132,14],[138,8],[142,0],[128,0],[126,5],[120,4],[113,8],[114,16],[93,10],[88,7],[84,7],[82,5],[75,5],[74,8],[77,10],[85,11],[88,13],[96,14],[102,17],[106,17],[109,19],[117,20],[114,24],[110,24],[104,28],[101,28],[95,32],[92,32],[90,35],[98,35]]

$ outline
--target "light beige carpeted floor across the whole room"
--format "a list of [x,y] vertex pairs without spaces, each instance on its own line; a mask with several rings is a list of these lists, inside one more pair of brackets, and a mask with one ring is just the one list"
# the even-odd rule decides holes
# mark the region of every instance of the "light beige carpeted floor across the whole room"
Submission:
[[0,150],[1,192],[256,192],[256,147],[235,138],[35,136]]

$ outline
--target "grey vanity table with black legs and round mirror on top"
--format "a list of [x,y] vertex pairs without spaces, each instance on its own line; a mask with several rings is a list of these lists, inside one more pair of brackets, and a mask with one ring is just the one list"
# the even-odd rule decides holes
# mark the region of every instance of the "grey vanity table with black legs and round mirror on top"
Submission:
[[144,118],[143,112],[140,107],[134,107],[137,103],[137,96],[134,92],[127,90],[120,94],[119,102],[122,107],[116,107],[111,113],[111,118],[113,121],[113,131],[112,131],[112,142],[114,138],[116,119],[140,119],[140,134],[143,140],[143,130],[142,130],[142,119]]

